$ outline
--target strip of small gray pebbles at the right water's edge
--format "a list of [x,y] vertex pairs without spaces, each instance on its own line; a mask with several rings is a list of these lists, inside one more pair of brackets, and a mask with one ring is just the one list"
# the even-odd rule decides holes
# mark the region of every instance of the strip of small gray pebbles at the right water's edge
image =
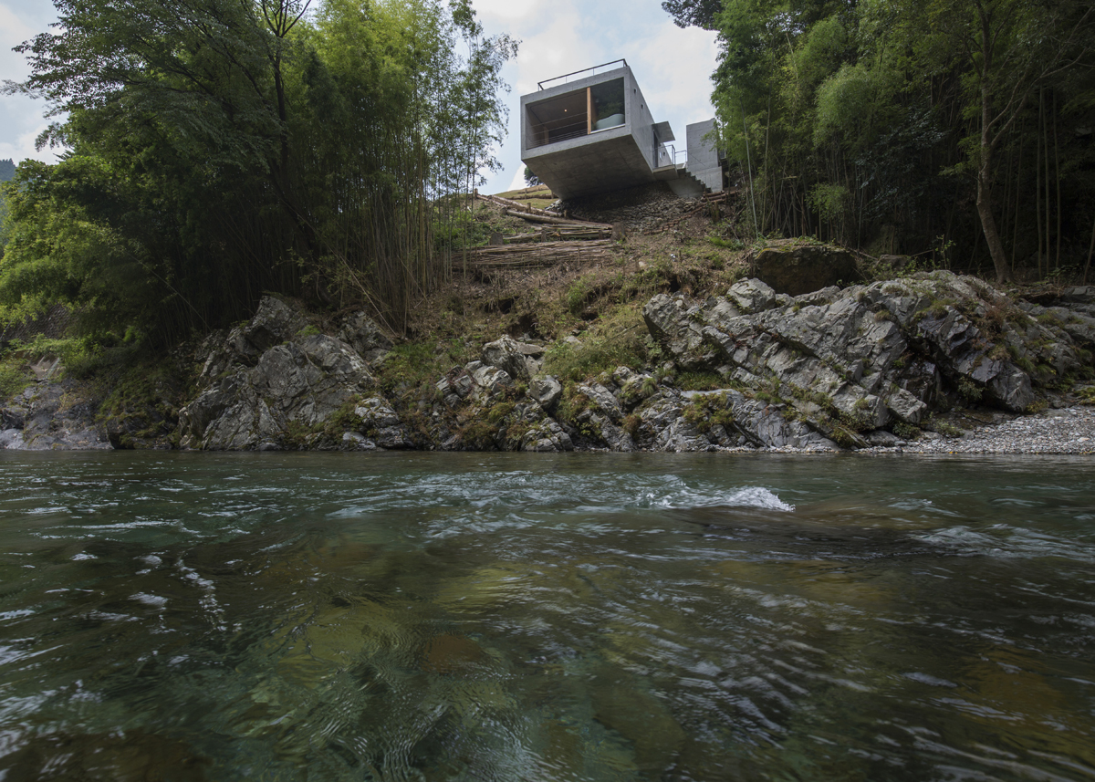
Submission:
[[925,432],[918,439],[861,452],[1095,455],[1095,407],[1047,410],[963,429],[960,437]]

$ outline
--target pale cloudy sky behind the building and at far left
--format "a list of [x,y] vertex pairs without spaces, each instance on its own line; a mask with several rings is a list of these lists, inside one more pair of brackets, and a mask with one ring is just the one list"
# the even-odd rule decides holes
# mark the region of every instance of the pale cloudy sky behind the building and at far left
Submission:
[[[520,147],[520,96],[537,82],[616,59],[626,59],[657,122],[669,122],[678,138],[684,126],[710,119],[715,34],[681,30],[661,10],[660,0],[472,0],[487,35],[506,33],[521,41],[517,59],[503,76],[512,88],[509,134],[497,150],[504,169],[483,189],[499,193],[523,187]],[[47,32],[57,14],[49,0],[0,0],[0,82],[30,73],[12,47]],[[49,120],[46,106],[20,95],[0,95],[0,160],[26,158],[53,162],[48,148],[34,141]]]

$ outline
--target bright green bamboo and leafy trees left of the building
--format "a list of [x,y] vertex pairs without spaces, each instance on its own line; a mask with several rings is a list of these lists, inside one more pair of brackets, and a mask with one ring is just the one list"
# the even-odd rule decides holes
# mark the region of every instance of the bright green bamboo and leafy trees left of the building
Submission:
[[56,5],[5,88],[48,101],[66,149],[4,186],[9,320],[62,302],[162,343],[278,291],[401,329],[451,278],[517,50],[468,0]]

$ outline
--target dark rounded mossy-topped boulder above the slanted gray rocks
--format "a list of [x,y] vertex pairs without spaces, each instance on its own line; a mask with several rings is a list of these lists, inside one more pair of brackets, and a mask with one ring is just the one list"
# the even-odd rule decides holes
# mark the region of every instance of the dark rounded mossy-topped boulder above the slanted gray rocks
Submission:
[[861,279],[855,257],[846,250],[800,241],[779,242],[761,250],[753,262],[753,275],[775,292],[788,296]]

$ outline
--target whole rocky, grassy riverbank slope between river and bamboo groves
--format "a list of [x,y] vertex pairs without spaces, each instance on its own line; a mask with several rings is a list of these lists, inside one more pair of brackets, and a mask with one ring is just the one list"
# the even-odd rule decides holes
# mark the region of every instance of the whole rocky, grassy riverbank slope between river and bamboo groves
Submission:
[[808,239],[733,250],[711,206],[644,208],[636,227],[671,228],[624,226],[577,261],[476,266],[405,334],[266,296],[169,354],[46,357],[0,406],[0,446],[1091,451],[1095,286],[1001,288]]

